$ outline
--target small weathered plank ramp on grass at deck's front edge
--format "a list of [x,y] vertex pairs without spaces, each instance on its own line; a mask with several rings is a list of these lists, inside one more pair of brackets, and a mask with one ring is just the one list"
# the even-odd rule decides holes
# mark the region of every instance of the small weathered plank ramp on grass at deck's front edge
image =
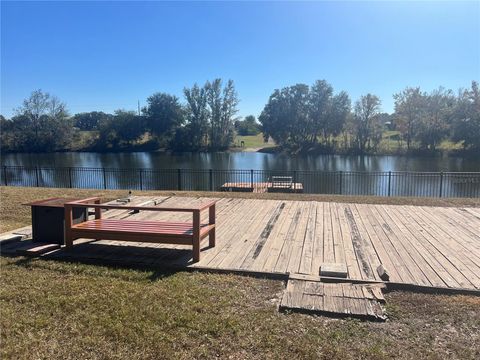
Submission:
[[280,310],[385,321],[383,287],[383,284],[325,283],[320,279],[289,278]]

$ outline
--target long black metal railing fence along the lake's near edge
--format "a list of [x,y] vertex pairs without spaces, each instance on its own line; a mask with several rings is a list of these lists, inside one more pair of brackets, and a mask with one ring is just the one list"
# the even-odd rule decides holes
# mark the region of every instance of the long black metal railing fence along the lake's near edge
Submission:
[[[296,191],[310,194],[480,197],[480,172],[356,172],[214,169],[116,169],[3,166],[7,186],[86,189],[243,191],[264,189],[274,177],[291,177]],[[262,187],[263,186],[263,187]],[[300,191],[300,189],[302,191]]]

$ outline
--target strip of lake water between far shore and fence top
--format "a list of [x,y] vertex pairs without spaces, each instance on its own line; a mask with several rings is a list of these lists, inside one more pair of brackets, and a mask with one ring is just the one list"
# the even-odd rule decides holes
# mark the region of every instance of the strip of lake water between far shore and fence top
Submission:
[[88,153],[5,154],[2,165],[146,169],[254,169],[314,171],[480,171],[480,157],[411,157],[236,153]]

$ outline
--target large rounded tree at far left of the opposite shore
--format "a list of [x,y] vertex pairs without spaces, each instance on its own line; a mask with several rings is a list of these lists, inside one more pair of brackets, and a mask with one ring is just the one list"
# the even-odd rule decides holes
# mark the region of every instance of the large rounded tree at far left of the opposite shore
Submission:
[[36,90],[15,113],[12,131],[20,151],[55,151],[70,143],[72,122],[65,104],[57,97]]

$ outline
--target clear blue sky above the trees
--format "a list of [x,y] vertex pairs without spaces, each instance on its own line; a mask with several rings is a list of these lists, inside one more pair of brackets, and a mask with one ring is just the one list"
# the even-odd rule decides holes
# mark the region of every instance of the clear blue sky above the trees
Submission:
[[134,110],[154,92],[235,81],[239,115],[276,88],[326,79],[393,111],[406,86],[480,78],[480,2],[1,3],[1,109],[32,90],[70,112]]

